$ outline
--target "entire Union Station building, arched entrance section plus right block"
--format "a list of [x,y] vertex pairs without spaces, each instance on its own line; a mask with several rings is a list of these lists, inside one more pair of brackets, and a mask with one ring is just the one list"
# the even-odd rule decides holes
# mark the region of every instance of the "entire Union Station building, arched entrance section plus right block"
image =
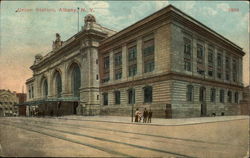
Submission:
[[28,104],[46,114],[153,117],[240,114],[242,48],[169,5],[115,32],[85,17],[36,55]]

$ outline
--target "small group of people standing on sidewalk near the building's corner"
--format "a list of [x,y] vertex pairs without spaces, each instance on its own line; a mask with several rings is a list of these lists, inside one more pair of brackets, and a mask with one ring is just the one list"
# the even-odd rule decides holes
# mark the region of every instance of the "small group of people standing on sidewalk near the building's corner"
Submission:
[[151,123],[152,115],[153,112],[151,111],[151,109],[149,109],[148,111],[147,108],[145,108],[143,113],[141,113],[137,108],[135,111],[135,122],[141,122],[141,120],[143,119],[143,123]]

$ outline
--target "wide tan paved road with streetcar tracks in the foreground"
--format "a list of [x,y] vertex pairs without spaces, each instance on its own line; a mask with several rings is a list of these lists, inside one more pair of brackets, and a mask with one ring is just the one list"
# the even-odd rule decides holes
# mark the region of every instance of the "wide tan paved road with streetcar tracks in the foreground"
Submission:
[[241,158],[248,142],[247,118],[178,126],[0,118],[0,156]]

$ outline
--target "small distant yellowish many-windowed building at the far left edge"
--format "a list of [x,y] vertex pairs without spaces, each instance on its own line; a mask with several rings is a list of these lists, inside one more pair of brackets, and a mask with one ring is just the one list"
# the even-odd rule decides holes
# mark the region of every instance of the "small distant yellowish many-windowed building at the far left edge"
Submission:
[[0,89],[0,116],[17,116],[17,103],[19,99],[16,92]]

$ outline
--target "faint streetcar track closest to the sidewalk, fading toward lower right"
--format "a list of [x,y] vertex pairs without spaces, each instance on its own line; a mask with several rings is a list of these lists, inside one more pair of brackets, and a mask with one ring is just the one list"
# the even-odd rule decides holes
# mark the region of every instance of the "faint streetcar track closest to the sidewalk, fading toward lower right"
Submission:
[[60,124],[60,125],[66,125],[71,127],[82,127],[82,128],[90,128],[90,129],[97,129],[97,130],[105,130],[105,131],[112,131],[112,132],[120,132],[120,133],[126,133],[126,134],[137,134],[137,135],[143,135],[143,136],[151,136],[151,137],[158,137],[158,138],[165,138],[165,139],[174,139],[174,140],[181,140],[181,141],[189,141],[189,142],[197,142],[197,143],[204,143],[204,144],[216,144],[216,145],[230,145],[230,146],[236,146],[239,147],[239,145],[232,145],[227,143],[218,143],[218,142],[209,142],[209,141],[202,141],[202,140],[194,140],[194,139],[187,139],[187,138],[177,138],[177,137],[169,137],[169,136],[161,136],[161,135],[155,135],[155,134],[146,134],[146,133],[138,133],[138,132],[129,132],[129,131],[122,131],[117,129],[109,129],[109,128],[103,128],[103,127],[93,127],[88,125],[77,125],[77,124],[67,124],[67,123],[53,123],[49,121],[37,121],[37,120],[31,120],[33,122],[44,122],[44,123],[51,123],[51,124]]

